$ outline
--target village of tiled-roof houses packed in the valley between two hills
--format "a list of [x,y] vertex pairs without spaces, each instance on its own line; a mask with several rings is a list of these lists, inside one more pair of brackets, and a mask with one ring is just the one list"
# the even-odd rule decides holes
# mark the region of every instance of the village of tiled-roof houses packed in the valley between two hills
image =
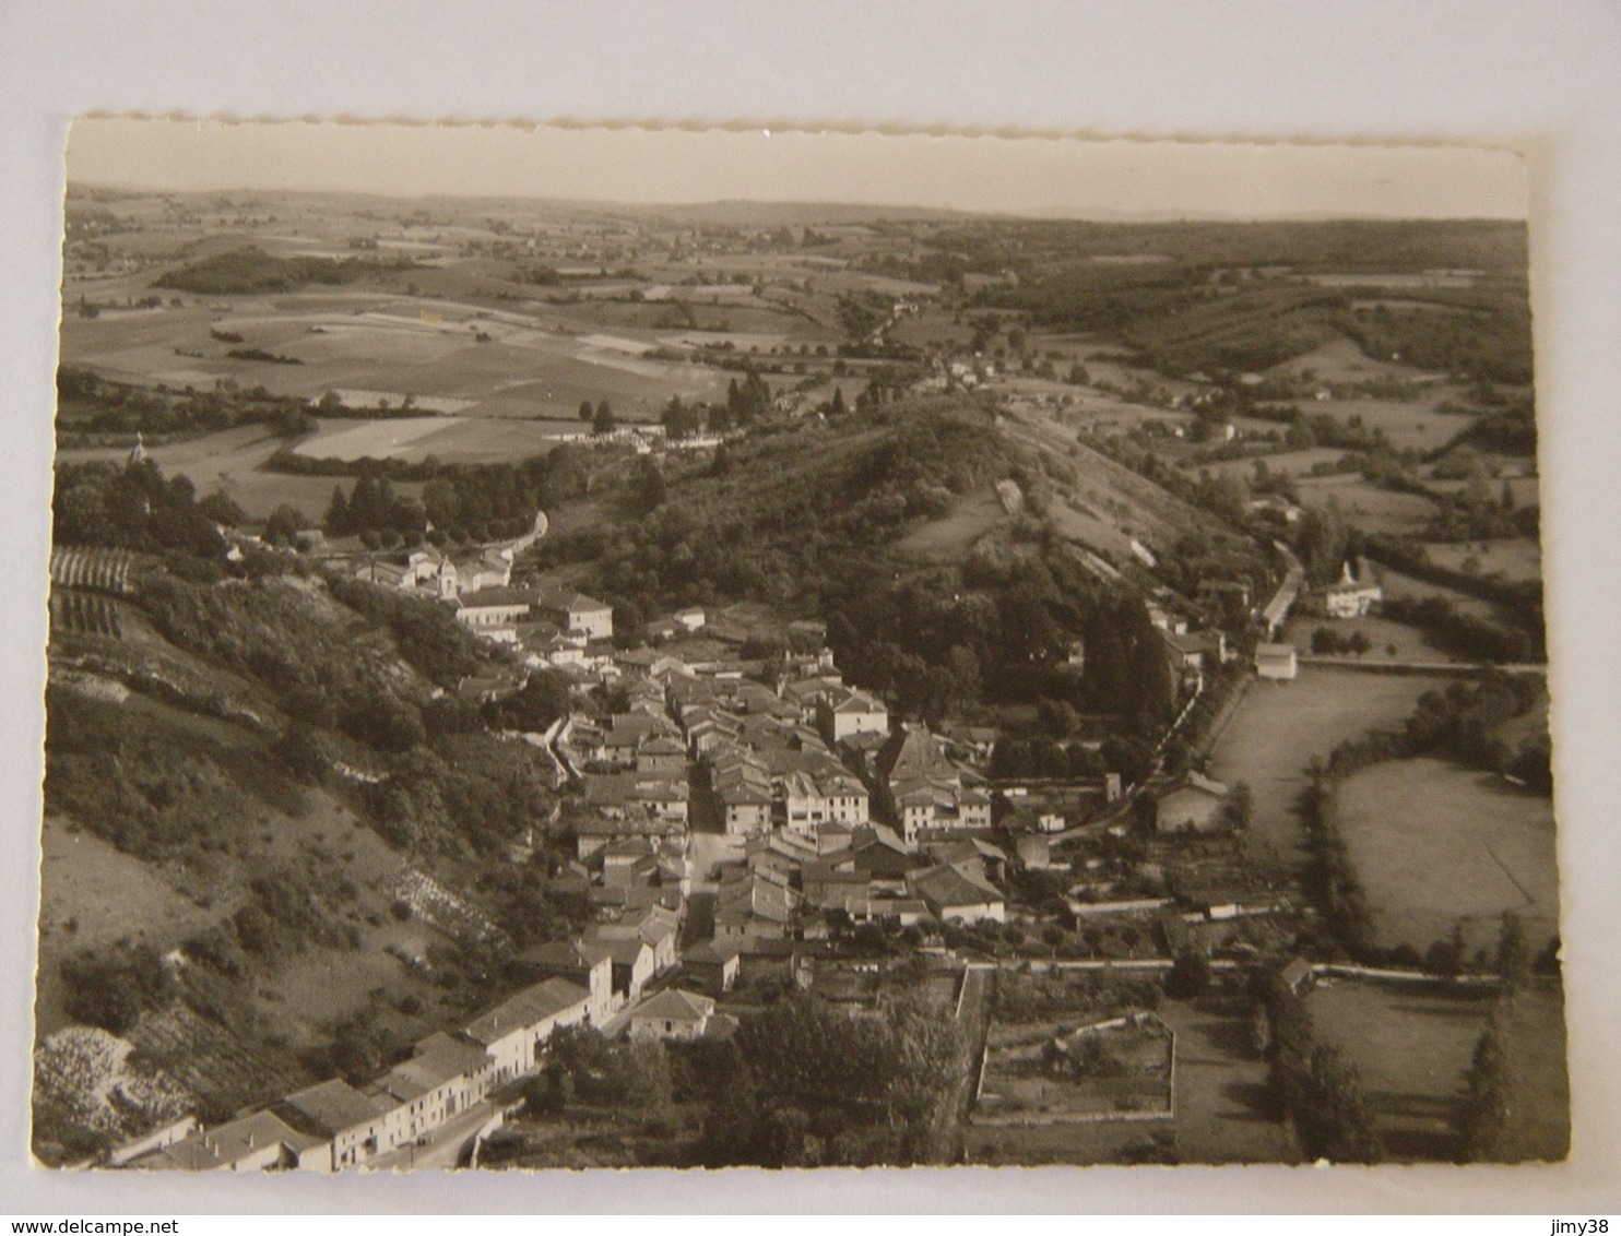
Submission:
[[[514,560],[543,531],[545,515],[517,543],[460,559],[423,549],[400,565],[371,556],[358,572],[444,606],[517,653],[506,676],[464,680],[464,700],[499,701],[537,672],[567,682],[567,713],[524,737],[567,787],[561,818],[537,821],[574,841],[551,886],[582,896],[592,925],[522,951],[514,961],[528,987],[436,1030],[360,1085],[334,1077],[211,1127],[185,1116],[118,1147],[109,1165],[477,1163],[478,1147],[522,1108],[548,1040],[569,1027],[725,1040],[757,1008],[762,983],[859,1009],[913,961],[945,983],[961,1019],[964,1001],[989,999],[976,978],[987,969],[1167,975],[1188,956],[1232,969],[1256,943],[1285,938],[1303,910],[1294,889],[1242,857],[1247,787],[1162,766],[1136,784],[1118,773],[994,776],[994,729],[948,722],[932,732],[892,716],[843,680],[819,622],[788,624],[781,651],[751,656],[757,614],[689,607],[647,624],[626,648],[608,604],[514,583]],[[109,569],[66,554],[62,580],[83,585],[92,567]],[[1284,586],[1300,585],[1289,575]],[[1329,617],[1365,616],[1376,599],[1352,564],[1316,596]],[[1255,620],[1276,632],[1292,601],[1274,598]],[[1284,682],[1298,672],[1292,645],[1263,640],[1238,667],[1219,629],[1190,632],[1185,617],[1149,611],[1182,719],[1224,667],[1229,679],[1235,669]],[[1078,666],[1084,650],[1071,646],[1070,659]],[[527,857],[522,846],[514,857]],[[1297,962],[1290,982],[1310,974]],[[989,1017],[971,1017],[979,1093]],[[1065,1034],[1107,1038],[1144,1017],[1174,1042],[1154,1014],[1130,1008],[1096,1032]],[[1080,1043],[1054,1042],[1065,1059]],[[1162,1074],[1164,1061],[1149,1069]],[[982,1102],[987,1127],[1007,1121],[1005,1097]]]

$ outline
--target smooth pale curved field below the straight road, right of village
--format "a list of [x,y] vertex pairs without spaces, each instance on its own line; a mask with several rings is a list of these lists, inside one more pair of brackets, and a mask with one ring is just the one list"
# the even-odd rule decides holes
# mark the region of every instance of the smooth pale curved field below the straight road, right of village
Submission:
[[1256,682],[1211,753],[1211,773],[1255,794],[1250,837],[1269,850],[1281,873],[1305,859],[1294,803],[1313,755],[1344,739],[1396,726],[1436,679],[1303,667],[1294,682]]

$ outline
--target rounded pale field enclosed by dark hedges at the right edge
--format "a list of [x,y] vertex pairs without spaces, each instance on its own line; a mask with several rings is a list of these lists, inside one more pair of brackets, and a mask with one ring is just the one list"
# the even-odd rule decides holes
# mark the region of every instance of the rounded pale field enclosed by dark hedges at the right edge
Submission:
[[1337,813],[1381,944],[1423,953],[1462,920],[1470,949],[1490,949],[1506,910],[1533,953],[1558,935],[1548,799],[1441,760],[1389,760],[1341,782]]

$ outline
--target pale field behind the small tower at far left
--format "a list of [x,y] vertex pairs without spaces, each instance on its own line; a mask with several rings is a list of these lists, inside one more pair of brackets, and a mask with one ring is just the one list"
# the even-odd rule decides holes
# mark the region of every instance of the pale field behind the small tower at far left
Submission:
[[[387,421],[379,421],[379,424],[387,424]],[[240,424],[206,437],[148,447],[146,454],[164,470],[165,476],[190,476],[198,494],[222,489],[253,518],[264,518],[276,507],[289,502],[310,518],[318,520],[326,510],[337,481],[331,476],[287,476],[264,471],[261,465],[285,445],[285,437],[276,437],[263,424]],[[122,463],[128,454],[128,447],[58,450],[57,462],[107,460]],[[394,491],[417,497],[421,492],[421,483],[400,481]]]

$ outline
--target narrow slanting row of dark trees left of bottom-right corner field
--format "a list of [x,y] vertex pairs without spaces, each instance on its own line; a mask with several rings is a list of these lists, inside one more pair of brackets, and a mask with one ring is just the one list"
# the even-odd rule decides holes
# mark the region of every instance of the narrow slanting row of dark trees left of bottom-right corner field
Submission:
[[1311,1014],[1276,969],[1255,975],[1251,999],[1255,1043],[1271,1064],[1268,1080],[1305,1157],[1378,1163],[1384,1150],[1357,1068],[1339,1048],[1316,1042]]

